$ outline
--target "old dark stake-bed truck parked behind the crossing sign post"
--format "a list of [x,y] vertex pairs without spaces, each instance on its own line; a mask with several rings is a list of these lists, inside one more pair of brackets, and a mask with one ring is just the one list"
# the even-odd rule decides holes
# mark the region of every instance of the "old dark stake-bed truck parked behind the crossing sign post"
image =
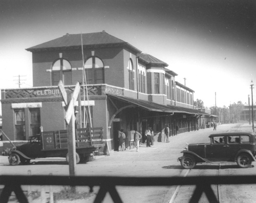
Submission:
[[[90,133],[91,132],[91,133]],[[86,162],[91,153],[103,147],[101,127],[76,129],[76,163]],[[30,160],[42,157],[66,157],[68,155],[68,131],[46,131],[31,136],[28,143],[12,149],[9,163],[13,166],[30,163]]]

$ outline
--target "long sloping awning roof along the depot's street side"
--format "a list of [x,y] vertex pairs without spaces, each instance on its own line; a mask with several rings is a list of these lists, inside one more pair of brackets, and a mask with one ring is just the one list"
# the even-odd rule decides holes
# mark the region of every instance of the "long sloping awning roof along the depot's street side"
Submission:
[[132,99],[124,96],[117,96],[108,94],[108,97],[117,99],[119,101],[125,102],[127,104],[133,104],[135,106],[141,107],[149,111],[158,111],[158,112],[169,112],[169,113],[183,113],[183,114],[192,114],[192,115],[207,115],[209,114],[191,108],[185,108],[180,106],[171,106],[171,105],[161,105],[150,101]]

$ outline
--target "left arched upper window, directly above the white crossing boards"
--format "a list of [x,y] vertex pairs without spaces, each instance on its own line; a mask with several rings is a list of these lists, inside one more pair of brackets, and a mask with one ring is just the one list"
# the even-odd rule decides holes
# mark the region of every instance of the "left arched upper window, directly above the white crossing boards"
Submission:
[[63,58],[57,59],[52,65],[52,85],[58,85],[62,80],[63,84],[72,84],[71,64]]

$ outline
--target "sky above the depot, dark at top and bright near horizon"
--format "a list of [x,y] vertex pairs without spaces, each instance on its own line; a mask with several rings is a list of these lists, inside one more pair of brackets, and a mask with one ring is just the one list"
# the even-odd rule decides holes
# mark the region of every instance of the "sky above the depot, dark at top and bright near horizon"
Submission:
[[256,85],[254,2],[1,0],[0,89],[17,88],[18,75],[21,87],[32,87],[32,53],[25,49],[105,30],[166,62],[205,107],[248,103]]

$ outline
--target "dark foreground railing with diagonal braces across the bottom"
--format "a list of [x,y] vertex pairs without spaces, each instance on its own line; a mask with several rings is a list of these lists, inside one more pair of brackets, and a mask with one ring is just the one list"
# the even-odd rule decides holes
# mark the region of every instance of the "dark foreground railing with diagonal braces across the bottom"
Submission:
[[195,185],[196,189],[189,202],[198,202],[203,193],[209,202],[219,202],[211,185],[256,184],[256,175],[243,176],[195,176],[195,177],[120,177],[120,176],[43,176],[43,175],[1,175],[0,185],[4,189],[0,202],[8,202],[12,192],[19,202],[28,202],[22,185],[37,186],[94,186],[100,189],[94,202],[102,202],[109,192],[114,202],[123,202],[116,186],[184,186]]

